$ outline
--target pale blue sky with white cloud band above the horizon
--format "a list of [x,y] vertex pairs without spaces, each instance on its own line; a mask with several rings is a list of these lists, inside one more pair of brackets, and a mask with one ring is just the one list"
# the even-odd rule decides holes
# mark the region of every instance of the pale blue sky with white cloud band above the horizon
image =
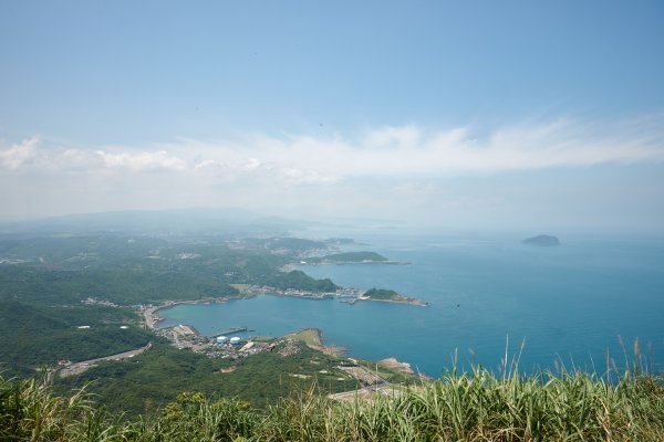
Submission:
[[0,220],[664,233],[662,1],[0,1]]

